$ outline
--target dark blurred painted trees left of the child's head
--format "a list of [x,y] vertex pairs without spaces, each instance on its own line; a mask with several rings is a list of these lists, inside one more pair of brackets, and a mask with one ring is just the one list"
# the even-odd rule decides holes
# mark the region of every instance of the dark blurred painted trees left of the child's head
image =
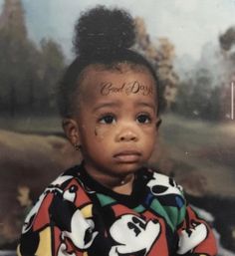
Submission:
[[28,39],[24,12],[5,1],[0,17],[0,111],[10,116],[55,113],[55,87],[65,67],[60,46]]

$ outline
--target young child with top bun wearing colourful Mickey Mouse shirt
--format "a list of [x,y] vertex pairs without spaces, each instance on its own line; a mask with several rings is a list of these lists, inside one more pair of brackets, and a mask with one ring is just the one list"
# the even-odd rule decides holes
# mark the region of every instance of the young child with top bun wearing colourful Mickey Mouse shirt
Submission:
[[134,23],[97,7],[76,26],[78,57],[60,88],[65,133],[83,155],[39,197],[18,255],[216,255],[182,188],[146,167],[158,117],[154,70],[131,50]]

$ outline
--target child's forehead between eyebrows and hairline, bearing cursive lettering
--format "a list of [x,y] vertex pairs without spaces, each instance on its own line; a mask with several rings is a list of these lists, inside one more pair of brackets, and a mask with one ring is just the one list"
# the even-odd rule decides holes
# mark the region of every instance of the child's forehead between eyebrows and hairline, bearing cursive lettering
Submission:
[[133,69],[121,64],[117,69],[90,66],[80,81],[77,92],[80,103],[94,105],[100,101],[130,101],[155,103],[154,80],[142,67]]

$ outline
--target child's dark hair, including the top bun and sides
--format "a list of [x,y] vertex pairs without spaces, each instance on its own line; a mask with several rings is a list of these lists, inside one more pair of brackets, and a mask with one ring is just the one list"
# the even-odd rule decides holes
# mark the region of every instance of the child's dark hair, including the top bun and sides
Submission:
[[[135,44],[132,17],[120,9],[98,6],[82,14],[75,26],[74,48],[77,58],[67,69],[59,88],[59,109],[63,118],[73,117],[73,95],[81,84],[83,71],[90,65],[118,70],[121,63],[130,68],[146,68],[156,87],[158,80],[150,63],[130,48]],[[158,90],[156,90],[158,98]],[[157,105],[158,100],[157,100]],[[158,108],[157,108],[158,111]]]

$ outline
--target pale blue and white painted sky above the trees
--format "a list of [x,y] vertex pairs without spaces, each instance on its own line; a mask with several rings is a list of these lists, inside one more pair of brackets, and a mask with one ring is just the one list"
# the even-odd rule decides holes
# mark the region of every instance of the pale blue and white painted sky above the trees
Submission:
[[[72,36],[81,11],[97,4],[123,7],[145,19],[154,41],[167,37],[176,55],[200,58],[208,42],[218,45],[218,37],[235,26],[235,0],[22,0],[29,35],[35,41],[53,38],[72,57]],[[3,0],[0,0],[2,7]]]

